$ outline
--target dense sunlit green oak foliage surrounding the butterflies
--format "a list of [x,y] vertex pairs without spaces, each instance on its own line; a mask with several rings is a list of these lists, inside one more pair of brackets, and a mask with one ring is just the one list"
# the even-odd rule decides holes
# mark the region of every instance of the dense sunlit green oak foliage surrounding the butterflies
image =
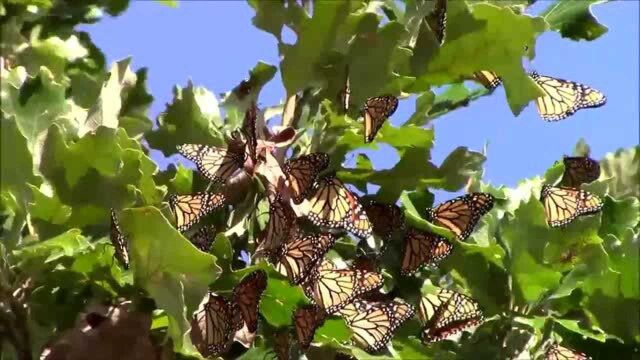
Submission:
[[[334,317],[318,329],[309,358],[341,352],[380,359],[530,359],[541,356],[551,339],[594,358],[638,356],[638,148],[612,149],[600,159],[600,178],[583,186],[604,200],[600,213],[550,228],[540,189],[560,179],[561,161],[515,188],[496,187],[482,181],[484,155],[466,147],[434,164],[435,134],[425,127],[490,95],[463,82],[483,69],[500,74],[517,115],[540,94],[522,67],[522,58],[533,56],[528,49],[544,31],[573,40],[602,35],[606,27],[589,11],[594,2],[560,1],[532,17],[523,15],[527,0],[450,1],[448,40],[439,47],[422,21],[433,9],[430,0],[405,0],[404,6],[249,0],[253,24],[277,40],[282,83],[291,97],[287,106],[275,104],[262,113],[268,124],[295,128],[293,140],[281,146],[294,155],[330,154],[329,167],[342,181],[365,193],[367,184],[379,186],[369,195],[399,201],[411,226],[454,242],[449,258],[419,276],[399,274],[393,253],[400,245],[391,242],[391,255],[382,263],[384,290],[415,304],[421,289],[432,285],[458,289],[480,304],[485,317],[458,341],[429,345],[419,339],[421,324],[410,320],[394,336],[394,352],[375,357],[350,344],[351,331]],[[271,334],[290,327],[292,312],[309,301],[270,264],[248,260],[268,218],[264,183],[248,178],[227,189],[230,206],[203,220],[224,231],[210,252],[203,252],[175,229],[167,198],[205,191],[209,182],[182,164],[159,170],[149,150],[170,156],[183,143],[221,145],[242,124],[262,87],[276,81],[278,68],[257,63],[249,78],[239,79],[221,99],[191,83],[176,86],[173,101],[153,122],[147,114],[153,100],[147,70],[134,72],[131,59],[107,67],[88,34],[76,29],[102,13],[118,15],[127,5],[126,0],[0,4],[0,356],[33,358],[53,339],[64,339],[70,344],[66,351],[76,356],[84,351],[104,358],[199,357],[188,336],[189,320],[207,289],[228,292],[257,268],[269,276],[259,336],[248,350],[236,344],[232,354],[272,356]],[[283,42],[284,27],[297,35],[295,44]],[[352,104],[382,93],[417,95],[415,113],[400,127],[387,122],[376,140],[365,144],[359,108],[343,114],[337,99],[346,64]],[[442,85],[446,89],[436,95]],[[349,154],[378,143],[396,150],[399,161],[393,167],[376,170],[364,154],[357,155],[354,167],[343,166]],[[284,154],[284,148],[276,151]],[[584,143],[576,148],[577,154],[587,152]],[[424,209],[433,203],[430,191],[463,188],[496,198],[464,242],[424,219]],[[119,210],[127,235],[130,270],[113,257],[111,208]],[[361,245],[345,235],[328,256],[353,259]],[[126,310],[108,307],[125,300],[131,301]],[[81,314],[92,312],[111,320],[98,327],[99,336],[87,339],[79,329],[92,320]]]

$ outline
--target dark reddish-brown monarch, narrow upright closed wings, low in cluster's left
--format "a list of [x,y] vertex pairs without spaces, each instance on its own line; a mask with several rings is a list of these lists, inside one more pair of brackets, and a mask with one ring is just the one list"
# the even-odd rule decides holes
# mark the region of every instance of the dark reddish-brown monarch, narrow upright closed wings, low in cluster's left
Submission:
[[245,276],[233,289],[233,301],[251,333],[258,329],[258,305],[266,288],[267,274],[264,270],[256,270]]

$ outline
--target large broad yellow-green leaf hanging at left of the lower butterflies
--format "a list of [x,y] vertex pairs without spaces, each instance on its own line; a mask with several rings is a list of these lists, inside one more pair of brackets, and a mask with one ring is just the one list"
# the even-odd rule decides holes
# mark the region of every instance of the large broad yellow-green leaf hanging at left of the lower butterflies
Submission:
[[195,355],[189,319],[220,273],[216,258],[198,250],[157,208],[125,209],[120,223],[135,282],[164,309],[174,350]]

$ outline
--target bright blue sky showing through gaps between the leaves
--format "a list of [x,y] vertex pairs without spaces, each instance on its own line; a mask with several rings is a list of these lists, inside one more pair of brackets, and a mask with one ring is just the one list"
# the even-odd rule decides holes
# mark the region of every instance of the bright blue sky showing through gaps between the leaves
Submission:
[[[549,4],[540,0],[529,13],[538,13]],[[608,26],[605,35],[593,42],[576,42],[547,32],[538,38],[536,58],[525,67],[604,92],[604,107],[548,123],[531,104],[514,117],[499,88],[492,96],[432,123],[436,130],[434,162],[439,164],[457,146],[480,151],[488,142],[485,181],[513,186],[520,179],[542,174],[563,154],[571,154],[580,138],[591,146],[596,159],[620,147],[637,145],[640,2],[616,1],[594,6],[593,12]],[[108,62],[132,56],[134,68],[149,68],[148,86],[155,97],[150,115],[155,118],[171,101],[175,84],[185,85],[192,79],[217,95],[246,78],[259,60],[279,63],[275,38],[253,27],[252,17],[252,9],[243,1],[183,1],[177,9],[132,1],[123,15],[105,17],[82,29],[90,33]],[[278,74],[262,91],[260,103],[274,105],[283,97]],[[413,112],[413,100],[402,101],[392,123],[405,121]],[[376,168],[389,167],[396,158],[383,149],[374,163]]]

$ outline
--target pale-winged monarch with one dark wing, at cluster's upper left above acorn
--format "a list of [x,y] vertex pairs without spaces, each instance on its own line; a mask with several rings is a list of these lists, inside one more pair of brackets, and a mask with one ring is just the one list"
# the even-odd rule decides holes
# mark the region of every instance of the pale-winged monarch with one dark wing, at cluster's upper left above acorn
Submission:
[[227,148],[218,148],[200,144],[178,145],[178,151],[193,161],[200,171],[211,182],[223,184],[245,161],[244,144],[234,133]]

